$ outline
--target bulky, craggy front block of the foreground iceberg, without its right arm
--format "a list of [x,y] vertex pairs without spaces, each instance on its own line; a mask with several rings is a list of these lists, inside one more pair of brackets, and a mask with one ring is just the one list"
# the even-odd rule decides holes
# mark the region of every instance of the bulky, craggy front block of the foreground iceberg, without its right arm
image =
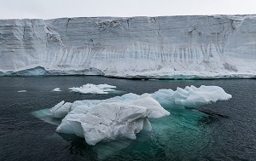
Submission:
[[142,129],[152,129],[148,118],[170,114],[149,94],[127,94],[106,101],[75,101],[73,104],[61,101],[50,111],[55,118],[63,118],[56,132],[84,137],[89,145],[119,137],[136,139]]

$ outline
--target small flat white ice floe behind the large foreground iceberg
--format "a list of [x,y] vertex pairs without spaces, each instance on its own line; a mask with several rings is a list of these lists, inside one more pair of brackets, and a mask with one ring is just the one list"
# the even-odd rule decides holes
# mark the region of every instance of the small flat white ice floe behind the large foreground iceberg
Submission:
[[86,83],[81,87],[69,88],[73,92],[79,92],[81,94],[108,94],[110,91],[114,91],[116,86],[104,84],[95,85],[93,83]]

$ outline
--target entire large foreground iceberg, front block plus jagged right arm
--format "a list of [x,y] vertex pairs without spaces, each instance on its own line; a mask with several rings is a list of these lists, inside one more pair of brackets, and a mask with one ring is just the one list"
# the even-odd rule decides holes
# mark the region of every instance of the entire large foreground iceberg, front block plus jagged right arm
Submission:
[[[58,133],[84,137],[89,145],[118,138],[136,139],[141,130],[152,129],[148,118],[170,115],[162,106],[195,107],[228,100],[231,95],[218,86],[160,89],[154,94],[126,94],[108,100],[61,101],[51,108],[55,118],[63,118]],[[172,117],[172,116],[170,116]]]

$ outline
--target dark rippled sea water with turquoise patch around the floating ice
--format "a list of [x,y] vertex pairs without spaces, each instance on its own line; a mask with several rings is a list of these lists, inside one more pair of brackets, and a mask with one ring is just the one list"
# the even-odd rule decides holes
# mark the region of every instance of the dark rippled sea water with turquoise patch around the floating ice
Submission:
[[[81,95],[68,88],[108,83],[123,92]],[[171,115],[150,120],[153,130],[137,140],[95,147],[33,116],[60,101],[108,99],[125,93],[153,93],[187,85],[218,85],[233,96],[202,106],[201,112],[164,106]],[[61,92],[51,92],[55,88]],[[26,90],[25,93],[18,93]],[[207,114],[206,114],[207,113]],[[127,80],[103,77],[0,78],[0,160],[255,160],[256,80]]]

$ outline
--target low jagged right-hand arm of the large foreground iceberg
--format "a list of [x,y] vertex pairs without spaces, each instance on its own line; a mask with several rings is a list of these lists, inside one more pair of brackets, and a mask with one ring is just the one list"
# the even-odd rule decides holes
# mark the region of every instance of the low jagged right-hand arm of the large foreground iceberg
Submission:
[[195,107],[202,106],[211,102],[229,100],[232,95],[227,94],[224,89],[218,86],[201,85],[196,88],[191,85],[184,89],[177,87],[176,91],[172,89],[160,89],[152,95],[160,104],[169,104],[176,106]]

